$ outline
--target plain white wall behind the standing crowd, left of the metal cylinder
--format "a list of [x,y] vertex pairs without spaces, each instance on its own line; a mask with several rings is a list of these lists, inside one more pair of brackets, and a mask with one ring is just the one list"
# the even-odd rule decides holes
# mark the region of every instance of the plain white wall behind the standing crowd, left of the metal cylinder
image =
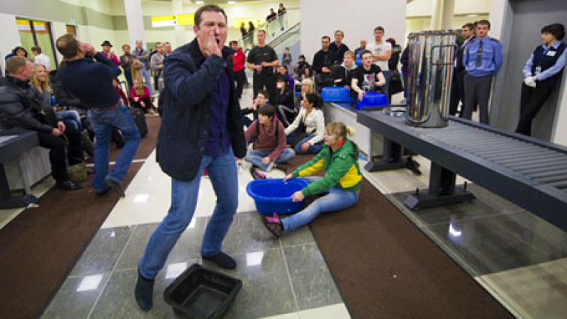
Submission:
[[[344,43],[354,50],[361,39],[374,40],[374,28],[383,26],[386,38],[398,42],[405,38],[405,1],[357,0],[345,6],[344,0],[301,1],[301,52],[311,62],[321,49],[321,36],[333,38],[344,31]],[[387,8],[387,10],[385,10]]]

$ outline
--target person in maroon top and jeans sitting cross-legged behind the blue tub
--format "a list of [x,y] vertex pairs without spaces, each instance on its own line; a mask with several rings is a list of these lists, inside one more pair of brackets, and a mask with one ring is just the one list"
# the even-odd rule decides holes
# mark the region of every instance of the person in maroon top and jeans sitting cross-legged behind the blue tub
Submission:
[[[278,167],[296,156],[296,152],[286,148],[286,133],[281,121],[276,118],[276,110],[270,104],[264,104],[258,110],[258,120],[254,121],[245,132],[246,142],[254,139],[253,150],[248,151],[244,160],[266,172]],[[254,167],[252,167],[252,176]]]

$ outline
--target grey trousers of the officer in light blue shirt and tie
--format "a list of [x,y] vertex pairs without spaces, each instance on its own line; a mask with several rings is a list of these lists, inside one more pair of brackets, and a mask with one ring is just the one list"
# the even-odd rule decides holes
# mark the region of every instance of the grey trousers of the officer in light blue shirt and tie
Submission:
[[471,119],[474,107],[478,104],[480,122],[489,124],[488,100],[490,99],[490,86],[492,86],[492,75],[484,77],[472,77],[465,75],[465,97],[463,117]]

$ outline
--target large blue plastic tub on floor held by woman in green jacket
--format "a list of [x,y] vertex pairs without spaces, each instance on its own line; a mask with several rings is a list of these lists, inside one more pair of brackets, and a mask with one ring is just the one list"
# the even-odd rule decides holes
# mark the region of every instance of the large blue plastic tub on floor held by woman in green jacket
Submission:
[[254,179],[246,186],[248,195],[254,198],[256,209],[263,215],[297,213],[303,201],[293,203],[291,196],[309,183],[305,179]]

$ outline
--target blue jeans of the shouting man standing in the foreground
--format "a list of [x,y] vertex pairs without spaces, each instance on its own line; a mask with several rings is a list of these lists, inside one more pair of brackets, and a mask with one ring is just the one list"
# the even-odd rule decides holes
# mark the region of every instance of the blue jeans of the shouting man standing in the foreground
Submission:
[[210,217],[203,242],[201,255],[213,256],[220,252],[223,240],[232,223],[238,206],[238,173],[232,149],[217,157],[203,156],[201,166],[192,181],[172,179],[172,203],[167,216],[159,224],[140,259],[140,274],[153,279],[164,267],[167,255],[173,249],[179,236],[185,231],[197,205],[201,174],[207,169],[217,196],[213,216]]

